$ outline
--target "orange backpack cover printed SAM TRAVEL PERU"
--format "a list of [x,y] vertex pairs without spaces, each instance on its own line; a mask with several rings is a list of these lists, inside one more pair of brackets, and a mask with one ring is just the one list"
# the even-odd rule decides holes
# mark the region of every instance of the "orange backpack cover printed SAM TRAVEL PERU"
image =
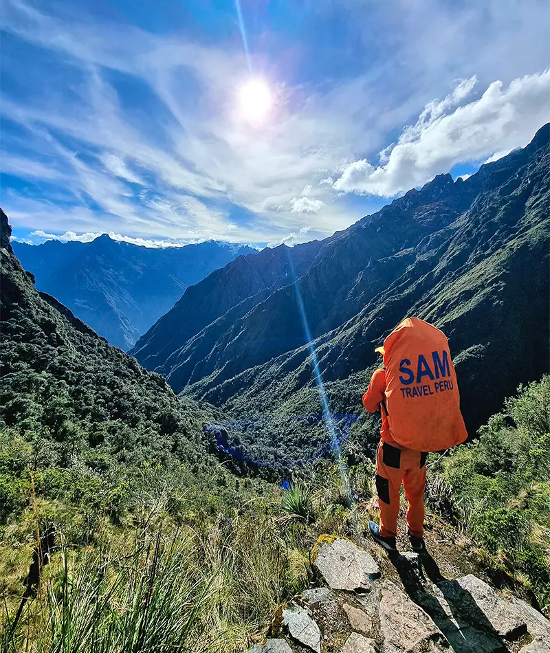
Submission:
[[397,444],[434,452],[465,441],[459,388],[443,331],[406,318],[377,351],[384,355],[386,414]]

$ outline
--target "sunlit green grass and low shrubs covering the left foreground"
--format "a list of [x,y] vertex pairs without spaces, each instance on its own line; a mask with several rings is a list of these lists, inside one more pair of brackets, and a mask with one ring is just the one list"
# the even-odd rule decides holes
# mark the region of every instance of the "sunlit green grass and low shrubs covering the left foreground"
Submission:
[[[9,432],[1,449],[3,487],[14,496],[0,527],[8,651],[243,651],[309,583],[318,536],[355,527],[328,463],[301,470],[289,490],[233,476],[231,501],[228,488],[195,487],[173,465],[121,466],[111,486],[78,464],[32,470],[21,443]],[[353,474],[355,496],[368,498],[359,493],[371,472]],[[56,546],[10,637],[46,527]]]

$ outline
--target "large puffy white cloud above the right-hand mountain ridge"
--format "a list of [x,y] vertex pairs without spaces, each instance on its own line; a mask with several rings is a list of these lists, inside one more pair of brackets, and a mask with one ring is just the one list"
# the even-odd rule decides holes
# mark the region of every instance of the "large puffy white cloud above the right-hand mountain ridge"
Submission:
[[333,188],[392,197],[455,164],[493,161],[525,146],[550,117],[550,69],[513,80],[507,89],[492,82],[481,98],[461,104],[473,87],[473,78],[463,80],[441,102],[428,103],[397,144],[386,149],[382,165],[351,162]]

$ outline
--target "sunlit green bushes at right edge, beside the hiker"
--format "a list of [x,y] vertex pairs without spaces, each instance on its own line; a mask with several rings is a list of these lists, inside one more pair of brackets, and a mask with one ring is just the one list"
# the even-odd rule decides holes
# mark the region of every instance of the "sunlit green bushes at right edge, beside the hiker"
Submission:
[[550,606],[550,376],[432,466],[432,506],[494,554]]

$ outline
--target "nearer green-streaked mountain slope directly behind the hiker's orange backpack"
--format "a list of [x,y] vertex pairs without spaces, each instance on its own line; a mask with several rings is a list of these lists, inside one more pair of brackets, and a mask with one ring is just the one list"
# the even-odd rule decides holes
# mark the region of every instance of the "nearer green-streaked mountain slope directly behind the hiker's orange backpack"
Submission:
[[[404,273],[366,298],[357,316],[316,340],[333,410],[359,410],[364,369],[377,362],[373,348],[411,314],[448,335],[470,432],[519,383],[549,370],[549,131],[547,125],[524,150],[483,166],[478,179],[470,178],[484,190],[469,210],[408,253]],[[223,384],[204,379],[190,390],[236,414],[252,405],[316,412],[311,368],[303,347]]]

